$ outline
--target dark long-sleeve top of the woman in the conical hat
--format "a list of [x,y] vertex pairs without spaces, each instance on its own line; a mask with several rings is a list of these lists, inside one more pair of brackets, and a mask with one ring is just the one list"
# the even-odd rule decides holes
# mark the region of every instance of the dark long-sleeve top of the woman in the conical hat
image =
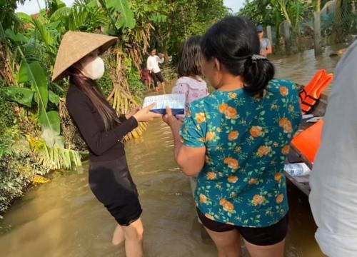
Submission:
[[91,99],[73,85],[66,95],[66,107],[89,148],[90,161],[109,161],[124,156],[124,143],[120,140],[138,126],[134,117],[126,119],[121,115],[121,124],[106,131]]

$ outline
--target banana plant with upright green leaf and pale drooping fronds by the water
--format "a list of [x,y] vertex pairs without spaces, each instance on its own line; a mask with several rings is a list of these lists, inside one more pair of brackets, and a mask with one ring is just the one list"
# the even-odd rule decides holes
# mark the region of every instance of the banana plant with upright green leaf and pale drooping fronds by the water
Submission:
[[44,142],[35,144],[34,138],[29,137],[37,161],[48,168],[71,168],[72,161],[81,166],[79,152],[64,148],[58,111],[49,110],[49,102],[58,105],[59,97],[49,91],[42,66],[36,61],[27,63],[23,56],[16,79],[23,87],[10,86],[6,88],[7,95],[12,101],[35,109],[34,116],[41,126],[41,140],[36,141]]

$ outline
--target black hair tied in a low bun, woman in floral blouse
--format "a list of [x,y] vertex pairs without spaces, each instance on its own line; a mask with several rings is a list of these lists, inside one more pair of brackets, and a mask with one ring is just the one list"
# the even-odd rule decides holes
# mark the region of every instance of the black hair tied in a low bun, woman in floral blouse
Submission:
[[273,64],[258,56],[256,27],[247,19],[231,16],[218,21],[203,35],[201,49],[206,60],[216,58],[229,73],[242,76],[244,89],[251,94],[262,94],[274,77]]

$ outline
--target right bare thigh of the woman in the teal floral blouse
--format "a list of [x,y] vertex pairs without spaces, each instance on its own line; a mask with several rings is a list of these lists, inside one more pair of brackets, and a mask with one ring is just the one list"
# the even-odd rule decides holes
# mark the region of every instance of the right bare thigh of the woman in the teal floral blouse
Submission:
[[285,239],[280,243],[273,244],[271,246],[256,246],[252,243],[244,241],[246,248],[251,257],[283,257]]

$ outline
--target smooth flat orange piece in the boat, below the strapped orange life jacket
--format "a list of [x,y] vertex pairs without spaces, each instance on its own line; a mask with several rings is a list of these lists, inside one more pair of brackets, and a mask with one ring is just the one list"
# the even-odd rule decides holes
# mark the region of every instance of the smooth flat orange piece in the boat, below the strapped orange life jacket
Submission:
[[322,127],[323,120],[317,121],[316,124],[313,124],[313,126],[299,133],[298,136],[291,140],[294,150],[298,151],[310,163],[313,163],[315,160],[318,147],[320,146]]

